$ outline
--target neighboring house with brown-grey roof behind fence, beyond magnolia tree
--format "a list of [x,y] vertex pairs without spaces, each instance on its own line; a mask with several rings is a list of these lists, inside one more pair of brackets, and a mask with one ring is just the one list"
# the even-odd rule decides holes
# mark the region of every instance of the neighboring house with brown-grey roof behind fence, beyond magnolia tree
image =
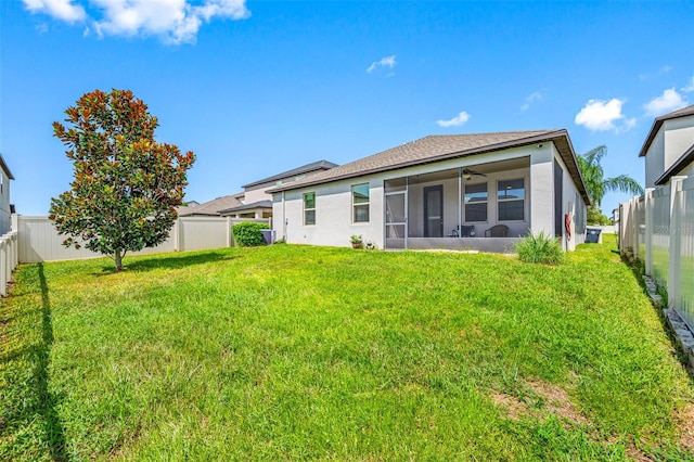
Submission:
[[312,175],[325,171],[337,164],[318,161],[310,164],[273,175],[262,180],[244,184],[243,192],[217,197],[195,207],[178,207],[182,217],[192,216],[222,216],[232,218],[267,219],[272,217],[272,195],[267,191],[280,184],[303,180]]

